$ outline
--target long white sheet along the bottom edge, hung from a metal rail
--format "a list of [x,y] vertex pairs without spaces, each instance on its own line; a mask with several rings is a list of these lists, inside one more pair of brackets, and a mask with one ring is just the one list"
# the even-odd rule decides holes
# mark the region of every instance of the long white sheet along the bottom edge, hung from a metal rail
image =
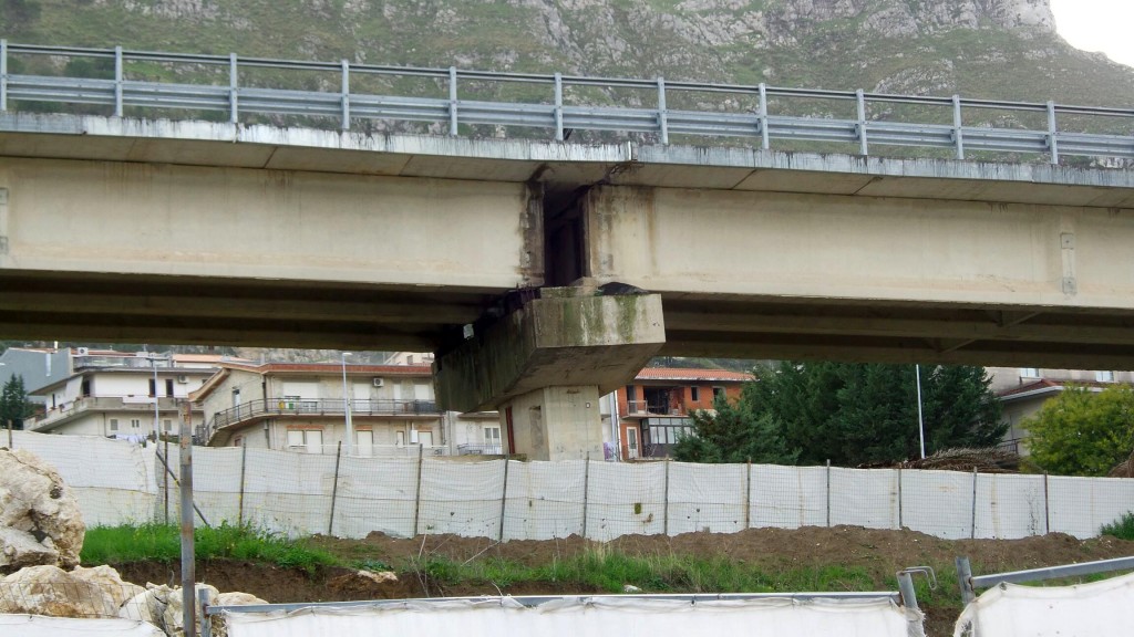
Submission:
[[[534,608],[506,598],[407,602],[291,613],[226,613],[230,637],[341,635],[539,635],[578,637],[906,637],[906,613],[888,598],[699,601],[565,598]],[[919,621],[920,620],[915,620]],[[920,623],[919,623],[920,625]]]

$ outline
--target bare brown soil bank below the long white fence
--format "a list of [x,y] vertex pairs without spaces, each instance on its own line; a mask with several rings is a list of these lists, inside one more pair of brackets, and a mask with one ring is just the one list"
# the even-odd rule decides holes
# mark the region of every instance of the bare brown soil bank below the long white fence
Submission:
[[[499,544],[484,537],[432,535],[396,538],[378,533],[365,540],[319,536],[312,543],[347,560],[373,560],[395,567],[429,557],[445,557],[459,562],[500,558],[540,566],[595,547],[593,542],[577,536]],[[874,589],[894,589],[894,574],[905,567],[931,566],[938,570],[941,586],[938,591],[925,593],[919,601],[926,611],[926,630],[932,637],[951,635],[953,623],[960,611],[953,570],[957,555],[967,555],[978,575],[1134,555],[1134,542],[1114,537],[1081,541],[1069,535],[1050,534],[1024,540],[948,541],[912,530],[849,526],[795,530],[760,528],[736,534],[688,533],[675,537],[625,536],[607,543],[604,549],[641,557],[722,555],[771,575],[831,564],[858,567],[873,578]],[[138,584],[176,583],[179,579],[177,569],[169,564],[136,562],[113,566],[124,579]],[[197,564],[197,579],[222,592],[243,591],[273,603],[606,593],[547,581],[518,581],[500,587],[491,581],[438,586],[412,572],[401,574],[398,581],[378,584],[356,577],[349,569],[321,568],[308,574],[299,569],[236,561],[201,562]]]

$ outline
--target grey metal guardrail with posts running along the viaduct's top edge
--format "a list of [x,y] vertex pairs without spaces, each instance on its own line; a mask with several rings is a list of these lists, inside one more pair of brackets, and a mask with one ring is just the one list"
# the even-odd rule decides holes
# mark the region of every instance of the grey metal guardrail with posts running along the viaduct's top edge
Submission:
[[[113,77],[61,77],[54,75],[25,75],[9,73],[12,56],[48,56],[113,60]],[[135,79],[128,74],[130,65],[187,65],[194,69],[227,69],[227,84],[185,84],[153,79]],[[271,88],[242,84],[242,73],[253,69],[276,69],[289,73],[325,73],[338,80],[339,91],[305,91]],[[352,91],[352,78],[428,78],[434,80],[437,97],[420,95],[379,95]],[[509,83],[543,87],[549,93],[539,103],[499,102],[463,99],[462,87],[469,83]],[[642,108],[631,100],[623,104],[574,103],[583,88],[598,88],[606,102],[617,99],[619,90],[645,91],[653,96],[653,108]],[[468,91],[468,88],[466,88]],[[736,101],[751,107],[725,112],[721,110],[670,109],[668,103],[680,99],[712,95],[716,105]],[[855,117],[814,117],[814,109],[803,113],[780,112],[779,105],[792,100],[830,101],[846,110],[854,109]],[[1086,130],[1060,128],[1060,118],[1081,116],[1092,120],[1119,120],[1127,131],[1134,130],[1134,108],[1100,108],[1034,103],[1001,100],[973,100],[953,95],[894,95],[863,91],[827,91],[786,88],[759,85],[701,84],[657,79],[627,79],[610,77],[565,76],[562,74],[517,74],[464,70],[456,67],[416,68],[379,65],[278,60],[269,58],[240,58],[125,51],[115,49],[81,49],[70,46],[41,46],[9,44],[0,40],[0,112],[8,111],[10,102],[59,102],[65,104],[94,104],[108,107],[115,117],[124,117],[126,109],[156,109],[163,111],[220,111],[236,125],[247,113],[268,116],[312,116],[331,118],[340,130],[349,130],[353,120],[422,121],[448,126],[449,135],[457,136],[463,125],[496,125],[528,127],[555,131],[555,139],[566,141],[573,130],[621,131],[655,135],[669,144],[671,135],[708,137],[751,137],[768,150],[772,139],[831,142],[856,145],[863,155],[874,146],[912,146],[919,148],[951,150],[956,159],[965,159],[970,151],[1036,153],[1051,163],[1059,163],[1061,155],[1110,156],[1134,159],[1134,133],[1098,134]],[[885,119],[881,108],[911,104],[945,109],[951,114],[947,124],[925,124]],[[700,104],[699,104],[700,105]],[[773,105],[777,107],[773,109]],[[804,110],[804,109],[801,109]],[[1040,128],[1001,128],[966,125],[964,114],[974,110],[1008,111],[1014,114],[1032,113],[1046,118]],[[946,118],[948,119],[948,118]],[[972,119],[970,119],[970,122]],[[877,154],[877,152],[875,152]]]

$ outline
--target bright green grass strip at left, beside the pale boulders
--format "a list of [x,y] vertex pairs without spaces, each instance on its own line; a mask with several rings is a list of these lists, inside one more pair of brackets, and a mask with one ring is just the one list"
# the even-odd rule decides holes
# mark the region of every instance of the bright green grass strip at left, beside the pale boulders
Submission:
[[[180,541],[180,529],[170,525],[94,527],[86,530],[79,559],[87,566],[143,560],[174,562],[181,557]],[[248,526],[222,524],[197,528],[193,541],[198,560],[248,560],[307,572],[320,566],[342,566],[332,553],[311,547],[303,540],[288,540]]]

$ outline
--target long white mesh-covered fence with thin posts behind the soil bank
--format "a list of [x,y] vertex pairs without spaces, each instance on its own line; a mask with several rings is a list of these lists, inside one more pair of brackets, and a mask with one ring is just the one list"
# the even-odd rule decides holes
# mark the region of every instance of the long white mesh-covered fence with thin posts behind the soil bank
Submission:
[[[78,494],[87,525],[178,519],[166,445],[15,432]],[[168,445],[176,474],[176,444]],[[211,525],[288,535],[452,533],[493,540],[855,525],[942,538],[1093,537],[1134,510],[1134,479],[772,465],[465,462],[194,448]]]

